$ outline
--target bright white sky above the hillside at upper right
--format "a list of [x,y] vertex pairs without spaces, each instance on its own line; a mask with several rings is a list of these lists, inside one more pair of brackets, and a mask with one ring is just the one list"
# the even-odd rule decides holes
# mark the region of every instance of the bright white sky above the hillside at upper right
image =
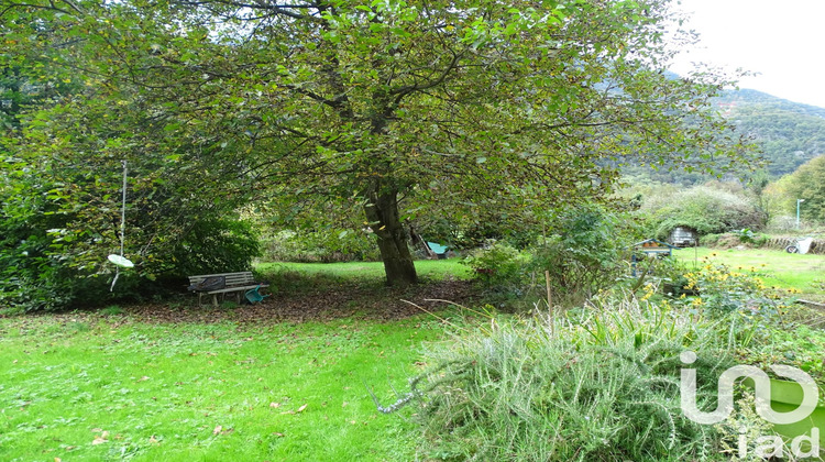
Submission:
[[752,88],[791,101],[825,108],[825,0],[681,0],[692,12],[688,28],[697,47],[672,70],[691,62],[757,72],[743,78]]

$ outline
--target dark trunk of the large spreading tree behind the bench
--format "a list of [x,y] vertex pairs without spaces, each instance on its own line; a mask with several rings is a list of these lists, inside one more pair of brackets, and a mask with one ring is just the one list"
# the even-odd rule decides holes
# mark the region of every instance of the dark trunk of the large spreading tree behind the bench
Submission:
[[418,275],[398,215],[397,189],[382,189],[373,185],[367,191],[367,199],[364,212],[378,239],[378,250],[381,250],[381,260],[384,261],[387,285],[416,284]]

